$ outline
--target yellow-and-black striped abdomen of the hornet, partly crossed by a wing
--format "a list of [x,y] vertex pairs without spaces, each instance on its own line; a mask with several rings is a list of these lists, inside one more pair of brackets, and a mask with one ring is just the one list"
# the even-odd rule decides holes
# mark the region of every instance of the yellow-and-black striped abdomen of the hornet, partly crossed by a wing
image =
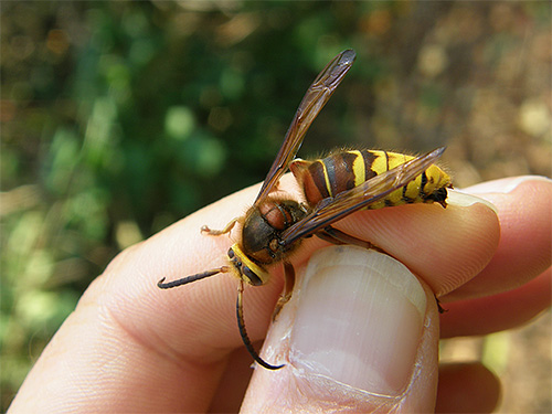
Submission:
[[[289,164],[289,169],[301,185],[308,203],[315,206],[322,199],[336,197],[413,158],[415,157],[404,153],[376,150],[339,151],[315,161],[296,159]],[[368,209],[433,202],[446,206],[446,189],[450,187],[450,177],[433,164],[407,185],[393,191]]]

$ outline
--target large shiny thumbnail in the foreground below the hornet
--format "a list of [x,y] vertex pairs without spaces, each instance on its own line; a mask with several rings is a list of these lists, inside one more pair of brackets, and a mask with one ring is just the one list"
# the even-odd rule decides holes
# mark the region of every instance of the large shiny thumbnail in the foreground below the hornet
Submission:
[[294,365],[383,395],[410,382],[426,312],[420,282],[374,251],[332,246],[309,261],[291,331]]

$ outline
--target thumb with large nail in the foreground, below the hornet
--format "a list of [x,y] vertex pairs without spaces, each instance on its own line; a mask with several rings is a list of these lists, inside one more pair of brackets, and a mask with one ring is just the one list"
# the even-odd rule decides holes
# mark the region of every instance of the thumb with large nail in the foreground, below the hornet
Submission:
[[433,412],[433,293],[394,258],[331,246],[310,258],[265,340],[242,412]]

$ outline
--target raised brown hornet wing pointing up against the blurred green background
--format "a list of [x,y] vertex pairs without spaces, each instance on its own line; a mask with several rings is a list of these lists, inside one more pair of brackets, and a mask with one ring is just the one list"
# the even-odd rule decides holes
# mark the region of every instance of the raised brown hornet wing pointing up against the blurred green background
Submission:
[[289,162],[291,162],[299,150],[310,124],[312,124],[312,120],[315,120],[329,100],[347,72],[349,72],[355,57],[357,55],[352,50],[341,52],[328,63],[310,85],[295,113],[294,120],[286,132],[284,144],[270,170],[266,174],[263,187],[255,200],[255,205],[264,201],[284,172],[286,172]]

